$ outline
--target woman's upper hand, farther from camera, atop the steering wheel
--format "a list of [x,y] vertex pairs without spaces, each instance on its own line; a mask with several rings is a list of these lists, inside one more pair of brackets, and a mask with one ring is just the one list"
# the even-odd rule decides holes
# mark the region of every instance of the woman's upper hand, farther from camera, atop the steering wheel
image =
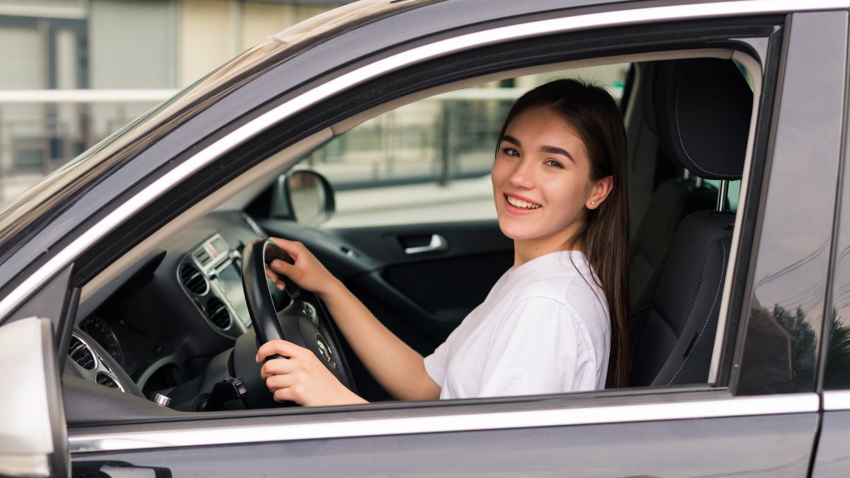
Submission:
[[331,275],[331,272],[301,242],[286,241],[286,239],[280,239],[280,237],[270,237],[269,239],[286,251],[293,261],[293,264],[288,264],[280,259],[275,259],[271,261],[271,270],[266,268],[266,275],[275,282],[275,286],[280,290],[286,287],[286,284],[280,279],[281,274],[295,282],[298,287],[309,290],[320,297],[326,296],[340,285],[337,278]]

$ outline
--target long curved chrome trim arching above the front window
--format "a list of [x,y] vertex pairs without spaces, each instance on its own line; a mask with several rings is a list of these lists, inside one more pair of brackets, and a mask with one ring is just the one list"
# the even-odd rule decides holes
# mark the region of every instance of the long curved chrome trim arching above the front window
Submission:
[[850,0],[811,0],[804,6],[800,6],[797,0],[739,0],[578,14],[558,19],[537,20],[519,25],[501,26],[490,30],[467,33],[460,37],[429,43],[411,48],[399,54],[394,54],[382,60],[377,60],[370,65],[362,66],[354,71],[343,74],[341,77],[323,83],[319,87],[275,107],[275,109],[264,113],[262,116],[254,118],[251,122],[247,122],[245,125],[224,136],[224,138],[207,146],[207,148],[198,152],[195,156],[190,157],[190,159],[180,164],[177,168],[156,179],[154,183],[145,187],[144,190],[139,191],[136,196],[124,202],[104,219],[101,219],[99,223],[82,233],[81,236],[77,237],[65,249],[56,253],[45,265],[42,265],[40,269],[27,277],[18,287],[15,287],[3,300],[0,300],[0,317],[8,316],[12,310],[17,308],[38,287],[41,287],[49,278],[57,274],[59,270],[71,264],[71,261],[76,259],[78,255],[91,247],[101,237],[114,230],[134,213],[138,213],[139,210],[156,200],[157,197],[171,190],[181,180],[207,166],[207,164],[214,161],[218,156],[230,151],[237,145],[241,145],[276,122],[280,122],[286,117],[292,116],[320,100],[325,100],[347,88],[351,88],[354,85],[363,83],[389,71],[398,70],[407,65],[432,59],[441,54],[454,53],[468,48],[513,41],[524,37],[537,37],[564,31],[583,30],[591,27],[632,25],[659,20],[691,20],[711,18],[724,14],[773,14],[791,11],[847,8],[850,8]]

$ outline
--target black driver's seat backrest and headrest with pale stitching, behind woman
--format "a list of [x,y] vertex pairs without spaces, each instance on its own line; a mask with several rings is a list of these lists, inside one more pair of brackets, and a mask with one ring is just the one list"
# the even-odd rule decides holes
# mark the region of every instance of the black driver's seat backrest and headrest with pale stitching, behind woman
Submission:
[[[655,86],[659,147],[705,179],[740,179],[752,92],[731,60],[665,62]],[[646,306],[632,316],[633,386],[706,382],[734,214],[678,226]]]

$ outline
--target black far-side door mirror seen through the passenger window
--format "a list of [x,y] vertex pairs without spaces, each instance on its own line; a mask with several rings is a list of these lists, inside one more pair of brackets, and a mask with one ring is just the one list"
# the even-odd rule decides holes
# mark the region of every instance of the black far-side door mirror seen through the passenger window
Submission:
[[294,219],[299,224],[321,224],[331,219],[337,208],[331,183],[307,169],[281,174],[273,197],[272,217]]

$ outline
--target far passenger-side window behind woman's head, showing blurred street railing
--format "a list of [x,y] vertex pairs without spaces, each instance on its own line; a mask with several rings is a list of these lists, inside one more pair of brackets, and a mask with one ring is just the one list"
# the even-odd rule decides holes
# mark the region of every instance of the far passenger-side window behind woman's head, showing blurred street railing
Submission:
[[490,166],[513,101],[554,78],[609,88],[620,100],[628,64],[517,77],[439,94],[363,122],[304,158],[326,176],[337,212],[323,227],[495,219]]

